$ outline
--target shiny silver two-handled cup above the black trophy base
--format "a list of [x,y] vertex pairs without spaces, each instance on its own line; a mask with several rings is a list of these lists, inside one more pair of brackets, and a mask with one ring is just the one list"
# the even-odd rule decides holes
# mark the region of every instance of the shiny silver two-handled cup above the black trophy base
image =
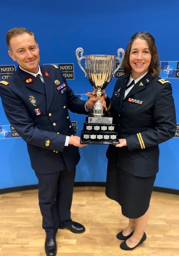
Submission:
[[[79,53],[81,52],[81,57]],[[102,91],[106,88],[107,84],[110,82],[114,74],[120,69],[122,60],[124,57],[124,50],[122,48],[118,49],[118,56],[115,55],[85,55],[83,56],[83,49],[78,48],[76,50],[76,57],[78,59],[78,64],[85,76],[87,76],[89,82],[96,89],[96,96],[98,101],[92,108],[91,115],[93,117],[103,117],[105,116],[105,110],[101,106],[101,96]],[[120,57],[121,54],[121,57]],[[85,70],[81,65],[81,60],[85,59]],[[119,60],[119,65],[115,70],[116,59]]]

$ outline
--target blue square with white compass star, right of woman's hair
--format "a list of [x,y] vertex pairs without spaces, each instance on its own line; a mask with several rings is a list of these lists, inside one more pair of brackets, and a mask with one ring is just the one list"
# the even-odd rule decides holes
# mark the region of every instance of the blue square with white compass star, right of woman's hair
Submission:
[[179,61],[161,61],[162,78],[179,78]]

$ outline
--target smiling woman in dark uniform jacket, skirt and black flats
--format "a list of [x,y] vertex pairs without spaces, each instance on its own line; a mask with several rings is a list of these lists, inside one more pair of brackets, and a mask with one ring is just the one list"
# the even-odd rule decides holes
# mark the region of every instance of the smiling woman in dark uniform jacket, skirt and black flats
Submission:
[[116,82],[108,111],[118,125],[119,144],[109,145],[106,196],[116,200],[128,226],[117,234],[120,247],[133,250],[146,240],[153,183],[159,170],[159,143],[175,134],[172,89],[161,79],[153,36],[134,34],[122,62],[124,75]]

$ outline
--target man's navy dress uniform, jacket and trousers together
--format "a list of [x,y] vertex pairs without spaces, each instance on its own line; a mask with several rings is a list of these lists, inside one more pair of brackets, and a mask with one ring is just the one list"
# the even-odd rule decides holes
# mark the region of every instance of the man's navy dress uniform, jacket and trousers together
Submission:
[[19,67],[0,82],[6,116],[27,142],[32,168],[39,180],[42,226],[54,238],[59,221],[69,220],[78,147],[65,145],[73,136],[68,109],[86,114],[85,102],[74,95],[57,66],[40,66],[44,83]]

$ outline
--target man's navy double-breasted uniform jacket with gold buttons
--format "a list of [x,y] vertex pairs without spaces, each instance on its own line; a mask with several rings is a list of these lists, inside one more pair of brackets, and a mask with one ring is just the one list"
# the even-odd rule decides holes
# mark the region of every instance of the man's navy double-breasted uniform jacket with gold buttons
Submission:
[[19,67],[7,83],[0,82],[3,107],[11,125],[27,142],[35,172],[50,174],[66,166],[71,170],[80,155],[78,147],[64,146],[66,135],[74,135],[68,109],[86,114],[85,101],[74,95],[58,67],[40,69],[44,84]]

